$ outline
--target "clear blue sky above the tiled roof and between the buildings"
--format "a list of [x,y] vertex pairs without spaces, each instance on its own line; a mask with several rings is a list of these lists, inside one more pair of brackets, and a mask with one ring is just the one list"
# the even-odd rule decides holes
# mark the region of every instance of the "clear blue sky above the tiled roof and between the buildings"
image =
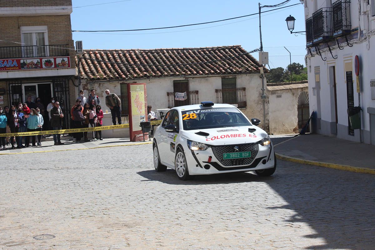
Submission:
[[[258,12],[258,1],[254,0],[130,0],[77,7],[113,1],[118,0],[73,0],[72,30],[156,28],[215,21]],[[272,5],[282,1],[284,0],[263,0],[261,4]],[[299,2],[299,0],[291,0],[286,5]],[[270,9],[263,8],[262,11]],[[289,53],[283,46],[291,52],[292,62],[304,64],[306,36],[290,34],[285,22],[285,18],[289,15],[296,18],[294,31],[304,31],[302,4],[262,14],[263,47],[264,51],[269,52],[271,68],[286,67],[289,64]],[[242,45],[244,49],[251,51],[260,46],[258,15],[165,30],[102,33],[106,32],[73,32],[73,39],[75,41],[82,40],[84,49],[154,49]],[[257,54],[254,56],[258,58]]]

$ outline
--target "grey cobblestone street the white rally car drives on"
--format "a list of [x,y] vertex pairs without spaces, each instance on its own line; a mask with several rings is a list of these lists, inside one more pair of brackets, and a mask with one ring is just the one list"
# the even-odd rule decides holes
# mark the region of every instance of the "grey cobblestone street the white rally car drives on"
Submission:
[[[278,161],[180,181],[152,145],[3,155],[0,249],[374,249],[374,175]],[[37,235],[55,238],[35,240]]]

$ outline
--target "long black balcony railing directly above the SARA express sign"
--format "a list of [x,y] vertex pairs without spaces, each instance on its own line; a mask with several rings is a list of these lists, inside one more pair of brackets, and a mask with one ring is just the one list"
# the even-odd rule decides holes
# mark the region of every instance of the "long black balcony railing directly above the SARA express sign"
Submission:
[[69,56],[69,45],[0,47],[1,59],[60,56]]

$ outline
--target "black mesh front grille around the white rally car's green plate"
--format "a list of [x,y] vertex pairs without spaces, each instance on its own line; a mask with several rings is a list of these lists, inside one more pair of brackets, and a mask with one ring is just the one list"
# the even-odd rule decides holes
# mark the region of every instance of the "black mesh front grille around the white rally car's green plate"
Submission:
[[[230,159],[223,160],[223,153],[234,153],[234,146],[239,147],[239,152],[251,151],[250,158],[242,159]],[[211,146],[214,156],[219,160],[223,166],[239,166],[239,165],[249,165],[255,159],[258,154],[259,145],[258,142],[248,143],[248,144],[233,144],[233,145],[223,145],[223,146]]]

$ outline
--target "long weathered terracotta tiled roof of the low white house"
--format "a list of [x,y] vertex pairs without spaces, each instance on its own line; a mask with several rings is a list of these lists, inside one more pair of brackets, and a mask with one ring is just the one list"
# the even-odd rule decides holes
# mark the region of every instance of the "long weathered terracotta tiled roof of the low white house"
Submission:
[[[77,57],[75,58],[78,64]],[[89,80],[260,72],[240,45],[171,49],[92,49],[80,56],[80,76]],[[264,67],[264,72],[268,72]]]

